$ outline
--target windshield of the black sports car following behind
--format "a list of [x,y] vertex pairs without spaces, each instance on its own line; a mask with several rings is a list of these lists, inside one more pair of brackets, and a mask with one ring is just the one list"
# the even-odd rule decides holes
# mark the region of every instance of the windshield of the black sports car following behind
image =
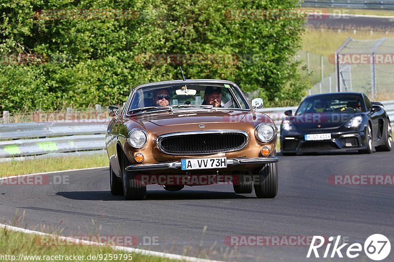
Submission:
[[315,96],[305,99],[296,115],[307,113],[351,114],[365,112],[361,96]]

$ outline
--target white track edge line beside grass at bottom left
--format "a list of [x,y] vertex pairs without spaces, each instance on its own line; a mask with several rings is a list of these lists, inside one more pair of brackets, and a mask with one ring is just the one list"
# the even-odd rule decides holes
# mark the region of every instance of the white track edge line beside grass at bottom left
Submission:
[[[78,238],[72,238],[72,237],[67,237],[67,236],[58,236],[55,234],[43,233],[43,232],[18,228],[18,227],[14,227],[14,226],[9,226],[9,225],[5,225],[5,224],[0,224],[0,227],[3,228],[4,230],[10,230],[10,231],[15,231],[15,232],[20,232],[20,233],[54,236],[54,237],[57,237],[58,239],[66,240],[66,241],[76,243],[76,244],[82,243],[85,245],[92,245],[92,246],[105,246],[105,244],[99,243],[99,242],[81,240]],[[160,257],[160,258],[187,261],[187,262],[220,262],[220,261],[199,259],[199,258],[182,256],[182,255],[177,255],[177,254],[144,250],[144,249],[139,249],[139,248],[125,247],[125,246],[108,246],[108,247],[112,248],[113,250],[118,250],[118,251],[124,251],[124,252],[135,253],[135,254],[146,255],[146,256],[156,256],[156,257]]]

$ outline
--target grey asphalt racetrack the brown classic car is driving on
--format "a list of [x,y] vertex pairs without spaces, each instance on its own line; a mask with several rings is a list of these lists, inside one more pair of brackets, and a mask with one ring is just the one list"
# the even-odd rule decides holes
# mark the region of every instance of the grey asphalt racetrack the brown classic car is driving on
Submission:
[[[362,244],[369,235],[382,233],[394,245],[393,185],[328,183],[329,175],[393,175],[394,151],[279,157],[275,199],[257,199],[254,192],[237,195],[231,185],[179,192],[152,185],[145,201],[125,201],[109,193],[104,168],[43,178],[66,179],[58,185],[2,185],[0,222],[18,221],[20,227],[35,230],[45,225],[47,232],[64,230],[68,236],[133,235],[142,244],[139,248],[224,261],[370,261],[363,252],[353,260],[307,260],[309,246],[302,245],[234,248],[224,241],[233,235],[342,235]],[[143,245],[142,239],[154,236],[158,245]],[[324,249],[319,251],[322,256]],[[394,261],[394,251],[385,261]]]

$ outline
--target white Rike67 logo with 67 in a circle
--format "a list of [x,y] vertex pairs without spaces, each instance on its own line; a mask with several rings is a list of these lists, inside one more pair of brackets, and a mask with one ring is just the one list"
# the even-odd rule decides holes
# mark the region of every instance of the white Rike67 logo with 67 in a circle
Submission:
[[[387,258],[391,250],[391,244],[389,239],[382,234],[370,235],[365,240],[363,247],[361,246],[360,243],[353,243],[347,248],[345,248],[349,243],[339,245],[340,240],[341,240],[340,235],[338,235],[336,238],[334,238],[333,236],[328,237],[328,243],[323,258],[335,258],[335,257],[343,258],[342,252],[344,252],[348,258],[353,259],[360,256],[360,253],[362,252],[362,248],[363,248],[365,255],[368,258],[370,258],[371,260],[380,261]],[[333,247],[332,250],[330,250],[332,244]],[[314,235],[306,257],[310,258],[313,251],[313,255],[315,256],[315,258],[320,258],[318,249],[323,245],[325,245],[325,238],[320,235]]]

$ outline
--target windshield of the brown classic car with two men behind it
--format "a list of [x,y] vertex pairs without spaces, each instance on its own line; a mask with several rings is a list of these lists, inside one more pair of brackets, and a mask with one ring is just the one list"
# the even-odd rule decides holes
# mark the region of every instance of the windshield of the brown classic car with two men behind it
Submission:
[[249,109],[243,94],[229,84],[172,84],[139,88],[128,114],[196,107]]

